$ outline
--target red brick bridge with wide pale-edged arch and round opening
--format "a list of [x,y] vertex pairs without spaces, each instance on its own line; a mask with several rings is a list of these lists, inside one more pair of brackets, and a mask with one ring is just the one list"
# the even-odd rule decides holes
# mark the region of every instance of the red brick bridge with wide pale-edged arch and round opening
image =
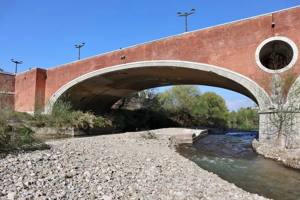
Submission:
[[[15,109],[51,106],[69,94],[75,109],[100,113],[121,97],[147,88],[199,84],[226,88],[253,99],[266,110],[264,77],[293,71],[300,61],[300,6],[186,32],[95,55],[50,69],[16,74]],[[268,67],[272,52],[286,60]],[[261,121],[261,119],[260,119]]]

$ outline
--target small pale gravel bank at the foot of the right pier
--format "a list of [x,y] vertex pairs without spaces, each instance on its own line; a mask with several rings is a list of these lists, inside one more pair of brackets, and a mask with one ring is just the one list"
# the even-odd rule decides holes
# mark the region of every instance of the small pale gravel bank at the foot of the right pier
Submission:
[[253,149],[264,157],[283,162],[286,166],[300,169],[300,148],[287,149],[283,146],[274,147],[259,143],[256,139],[252,142]]

